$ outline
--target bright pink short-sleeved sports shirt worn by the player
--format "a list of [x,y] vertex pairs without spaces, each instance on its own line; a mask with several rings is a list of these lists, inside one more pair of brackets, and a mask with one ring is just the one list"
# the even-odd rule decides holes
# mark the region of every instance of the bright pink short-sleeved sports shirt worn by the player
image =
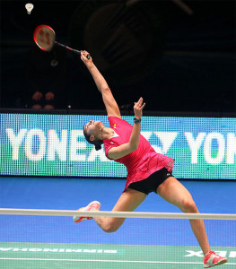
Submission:
[[[107,157],[111,148],[128,143],[133,129],[133,126],[119,117],[109,117],[109,125],[115,131],[115,135],[103,140]],[[155,171],[162,168],[166,168],[171,173],[174,166],[174,159],[155,152],[151,144],[141,134],[137,150],[114,161],[123,163],[127,167],[127,183],[125,189],[131,183],[148,178]]]

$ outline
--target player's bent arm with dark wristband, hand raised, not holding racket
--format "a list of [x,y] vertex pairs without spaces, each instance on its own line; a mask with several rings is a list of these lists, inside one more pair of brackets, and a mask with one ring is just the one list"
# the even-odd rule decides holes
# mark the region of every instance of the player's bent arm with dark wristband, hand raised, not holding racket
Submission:
[[[145,106],[145,103],[143,104],[143,98],[141,97],[135,103],[135,106],[134,106],[136,118],[141,119],[144,106]],[[109,159],[117,160],[119,158],[126,156],[127,154],[131,152],[135,152],[139,144],[140,129],[141,129],[141,121],[135,122],[128,143],[123,143],[119,145],[118,147],[111,148],[108,152]]]

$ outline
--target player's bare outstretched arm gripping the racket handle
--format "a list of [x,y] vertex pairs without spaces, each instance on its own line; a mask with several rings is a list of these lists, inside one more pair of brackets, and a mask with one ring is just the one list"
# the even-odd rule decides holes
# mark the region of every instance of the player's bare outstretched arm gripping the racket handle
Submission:
[[89,53],[87,51],[81,52],[81,59],[84,65],[87,66],[89,72],[92,74],[92,78],[97,85],[97,88],[101,92],[102,100],[107,109],[108,116],[121,117],[118,104],[114,99],[112,92],[109,89],[109,85],[98,70],[98,68],[93,64],[92,57],[89,59],[86,57]]

